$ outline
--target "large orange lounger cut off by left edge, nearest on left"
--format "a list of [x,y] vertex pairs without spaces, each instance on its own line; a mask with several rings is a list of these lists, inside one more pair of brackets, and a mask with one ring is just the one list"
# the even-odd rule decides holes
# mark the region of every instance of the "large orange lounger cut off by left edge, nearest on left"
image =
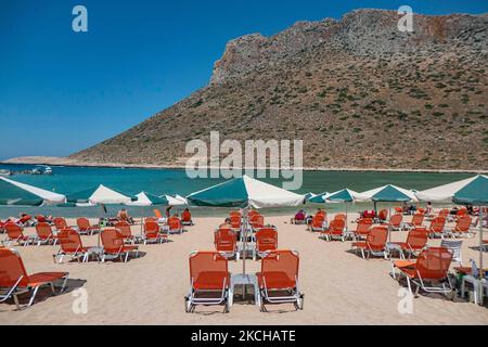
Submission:
[[5,294],[0,295],[0,303],[9,298],[13,298],[17,309],[21,309],[18,304],[18,296],[25,293],[30,293],[30,299],[27,304],[33,305],[36,294],[41,286],[49,285],[54,293],[54,283],[62,281],[61,292],[66,286],[68,272],[40,272],[35,274],[27,274],[24,262],[21,256],[14,249],[0,248],[0,287]]

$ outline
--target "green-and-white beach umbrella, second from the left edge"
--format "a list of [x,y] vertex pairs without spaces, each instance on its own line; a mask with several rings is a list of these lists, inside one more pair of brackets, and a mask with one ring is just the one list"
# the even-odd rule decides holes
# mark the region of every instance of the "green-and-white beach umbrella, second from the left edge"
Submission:
[[120,193],[103,184],[66,195],[67,203],[76,204],[76,206],[94,206],[99,204],[123,205],[136,200],[134,196]]

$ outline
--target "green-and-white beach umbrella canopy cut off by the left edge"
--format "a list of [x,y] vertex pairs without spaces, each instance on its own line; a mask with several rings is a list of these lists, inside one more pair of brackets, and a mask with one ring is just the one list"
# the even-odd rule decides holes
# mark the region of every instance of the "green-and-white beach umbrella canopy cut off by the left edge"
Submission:
[[0,177],[0,205],[41,206],[64,203],[66,196]]

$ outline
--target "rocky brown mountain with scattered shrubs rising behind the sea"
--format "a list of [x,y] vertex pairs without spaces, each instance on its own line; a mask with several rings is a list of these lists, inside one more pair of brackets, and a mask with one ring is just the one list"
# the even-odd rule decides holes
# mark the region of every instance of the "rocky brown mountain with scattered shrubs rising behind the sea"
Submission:
[[304,140],[309,168],[488,169],[488,14],[359,10],[230,41],[207,87],[76,163],[184,165],[185,144]]

